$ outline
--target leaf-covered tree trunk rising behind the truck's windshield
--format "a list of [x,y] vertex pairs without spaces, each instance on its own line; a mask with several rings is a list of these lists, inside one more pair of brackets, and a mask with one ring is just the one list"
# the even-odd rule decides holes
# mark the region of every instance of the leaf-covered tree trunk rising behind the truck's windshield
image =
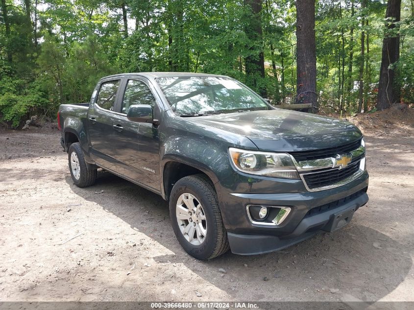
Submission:
[[265,57],[262,37],[262,0],[244,0],[246,10],[244,32],[249,39],[249,55],[245,57],[244,66],[248,84],[256,88],[260,95],[266,97],[266,88],[260,79],[265,77]]

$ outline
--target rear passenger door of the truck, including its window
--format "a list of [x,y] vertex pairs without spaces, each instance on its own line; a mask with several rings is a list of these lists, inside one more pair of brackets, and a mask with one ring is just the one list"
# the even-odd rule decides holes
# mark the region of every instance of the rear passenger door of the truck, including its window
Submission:
[[116,170],[113,119],[120,85],[121,79],[101,82],[97,95],[89,105],[87,120],[93,159],[99,166],[113,171]]

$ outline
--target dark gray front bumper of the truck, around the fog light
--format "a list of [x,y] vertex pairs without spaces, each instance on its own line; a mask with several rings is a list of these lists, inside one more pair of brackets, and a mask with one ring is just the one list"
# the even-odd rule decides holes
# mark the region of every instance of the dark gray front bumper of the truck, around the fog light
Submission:
[[[366,171],[348,184],[325,191],[309,192],[303,188],[302,182],[288,182],[286,185],[260,180],[250,186],[250,192],[219,191],[221,214],[233,253],[253,255],[277,251],[318,232],[333,231],[340,228],[334,222],[334,215],[353,209],[351,215],[346,216],[347,223],[353,213],[368,201]],[[244,184],[239,177],[238,188],[243,189]],[[271,188],[273,192],[267,192]],[[257,225],[249,220],[247,205],[287,206],[292,211],[278,226]]]

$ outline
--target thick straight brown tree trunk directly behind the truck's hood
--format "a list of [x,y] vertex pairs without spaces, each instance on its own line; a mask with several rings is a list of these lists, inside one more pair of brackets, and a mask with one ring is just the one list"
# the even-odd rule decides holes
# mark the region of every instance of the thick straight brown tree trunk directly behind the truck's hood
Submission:
[[296,103],[318,108],[316,93],[315,0],[296,3]]

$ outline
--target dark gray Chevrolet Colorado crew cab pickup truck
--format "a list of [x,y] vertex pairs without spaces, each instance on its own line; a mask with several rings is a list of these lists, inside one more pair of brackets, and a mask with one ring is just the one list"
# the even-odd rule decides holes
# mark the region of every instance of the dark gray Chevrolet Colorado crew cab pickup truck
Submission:
[[226,76],[108,76],[90,103],[62,104],[58,124],[74,184],[103,168],[160,194],[197,259],[280,250],[341,228],[368,201],[357,127],[275,109]]

